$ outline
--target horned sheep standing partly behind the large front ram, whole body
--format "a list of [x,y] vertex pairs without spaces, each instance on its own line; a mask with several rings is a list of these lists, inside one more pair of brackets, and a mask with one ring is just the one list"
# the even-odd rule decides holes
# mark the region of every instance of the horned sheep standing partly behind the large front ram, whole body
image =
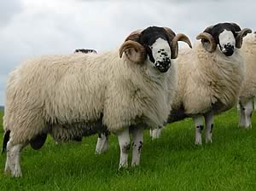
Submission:
[[[167,122],[192,118],[196,145],[201,145],[203,117],[206,142],[212,142],[213,115],[229,110],[238,100],[245,76],[242,38],[250,32],[235,23],[218,23],[196,37],[201,43],[194,49],[180,51],[177,94]],[[160,129],[153,130],[153,136],[160,136]]]

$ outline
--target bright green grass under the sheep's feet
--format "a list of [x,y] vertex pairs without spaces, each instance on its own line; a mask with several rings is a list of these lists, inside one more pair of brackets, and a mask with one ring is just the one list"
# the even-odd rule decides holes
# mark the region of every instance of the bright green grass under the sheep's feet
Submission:
[[22,151],[22,178],[4,176],[6,155],[0,156],[0,190],[256,190],[255,115],[252,130],[237,128],[236,109],[219,115],[213,143],[202,147],[194,145],[191,119],[169,124],[154,142],[146,130],[141,165],[122,171],[115,136],[99,156],[96,136],[57,146],[48,137],[40,151]]

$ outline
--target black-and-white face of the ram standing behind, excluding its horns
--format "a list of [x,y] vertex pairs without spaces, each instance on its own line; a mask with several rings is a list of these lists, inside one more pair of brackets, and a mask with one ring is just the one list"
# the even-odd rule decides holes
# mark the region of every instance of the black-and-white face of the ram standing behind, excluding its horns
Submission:
[[[218,23],[205,30],[205,32],[212,35],[219,49],[226,56],[234,54],[236,49],[236,36],[239,31],[241,31],[240,26],[231,23]],[[204,42],[202,41],[202,43]]]

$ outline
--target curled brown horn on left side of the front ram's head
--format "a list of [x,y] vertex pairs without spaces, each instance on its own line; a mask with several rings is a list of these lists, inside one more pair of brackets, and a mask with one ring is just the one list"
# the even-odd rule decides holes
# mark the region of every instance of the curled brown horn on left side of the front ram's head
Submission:
[[126,57],[133,62],[142,63],[146,59],[146,49],[142,44],[132,40],[127,40],[119,49],[119,56],[122,58],[125,53]]

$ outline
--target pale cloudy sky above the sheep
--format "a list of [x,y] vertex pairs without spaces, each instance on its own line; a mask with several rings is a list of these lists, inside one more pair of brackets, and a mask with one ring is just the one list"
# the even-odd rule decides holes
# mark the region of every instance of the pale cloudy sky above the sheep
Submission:
[[26,59],[117,49],[129,33],[148,26],[170,27],[192,42],[219,22],[255,31],[255,10],[255,0],[1,0],[0,106],[9,72]]

